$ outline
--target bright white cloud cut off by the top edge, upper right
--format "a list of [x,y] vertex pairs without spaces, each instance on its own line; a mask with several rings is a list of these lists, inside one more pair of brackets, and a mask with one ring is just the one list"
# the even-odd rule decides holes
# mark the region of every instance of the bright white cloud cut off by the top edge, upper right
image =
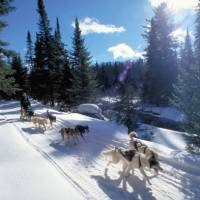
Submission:
[[162,2],[166,2],[169,8],[179,9],[193,9],[197,6],[198,0],[148,0],[153,7],[160,5]]

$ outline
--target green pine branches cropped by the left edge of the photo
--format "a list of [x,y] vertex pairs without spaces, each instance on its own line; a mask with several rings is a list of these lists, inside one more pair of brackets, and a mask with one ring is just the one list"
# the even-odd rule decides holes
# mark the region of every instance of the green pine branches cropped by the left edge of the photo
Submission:
[[[11,6],[12,0],[1,0],[0,16],[8,14],[14,10]],[[7,23],[0,20],[0,31],[7,26]],[[0,40],[0,98],[8,98],[17,91],[17,85],[12,77],[13,71],[8,63],[5,62],[5,57],[10,56],[10,51],[5,49],[7,42]]]

